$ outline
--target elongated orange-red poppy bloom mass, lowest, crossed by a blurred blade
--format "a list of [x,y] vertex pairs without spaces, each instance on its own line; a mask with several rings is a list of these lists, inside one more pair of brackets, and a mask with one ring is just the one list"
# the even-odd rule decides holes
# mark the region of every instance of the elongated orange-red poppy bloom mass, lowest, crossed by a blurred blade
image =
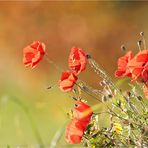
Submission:
[[66,128],[66,141],[70,144],[80,143],[93,114],[90,106],[77,101],[73,109],[73,119]]

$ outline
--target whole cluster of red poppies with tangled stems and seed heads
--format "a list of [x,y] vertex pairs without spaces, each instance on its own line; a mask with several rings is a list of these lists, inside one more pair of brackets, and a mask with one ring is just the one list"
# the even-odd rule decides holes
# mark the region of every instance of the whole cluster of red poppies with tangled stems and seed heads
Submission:
[[[58,86],[71,93],[75,107],[66,126],[65,139],[69,144],[82,143],[84,147],[148,147],[148,49],[142,33],[144,49],[134,56],[128,51],[118,59],[116,77],[129,77],[130,89],[122,91],[96,61],[81,48],[72,48],[68,59],[69,70],[63,71]],[[139,42],[138,42],[139,43]],[[138,44],[139,45],[139,44]],[[24,48],[23,63],[35,68],[45,55],[45,45],[39,41]],[[78,79],[89,64],[102,78],[102,90],[94,89]],[[136,82],[136,83],[134,83]],[[98,101],[90,107],[82,97],[86,93]],[[83,100],[82,100],[83,99]],[[105,110],[98,113],[99,106]],[[100,126],[104,116],[107,125]],[[102,121],[104,122],[104,121]]]

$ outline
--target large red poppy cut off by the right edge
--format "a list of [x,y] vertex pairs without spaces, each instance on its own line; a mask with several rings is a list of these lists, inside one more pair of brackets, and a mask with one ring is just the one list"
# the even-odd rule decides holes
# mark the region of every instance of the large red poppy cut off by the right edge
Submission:
[[140,80],[145,83],[148,81],[148,50],[140,51],[135,57],[128,63],[132,79]]

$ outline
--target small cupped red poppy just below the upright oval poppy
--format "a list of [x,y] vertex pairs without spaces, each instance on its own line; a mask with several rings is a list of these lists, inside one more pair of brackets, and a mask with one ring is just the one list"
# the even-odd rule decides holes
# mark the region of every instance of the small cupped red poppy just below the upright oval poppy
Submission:
[[62,91],[64,92],[70,92],[73,89],[74,84],[77,81],[77,76],[70,71],[66,71],[62,73],[60,82],[59,82],[59,87]]

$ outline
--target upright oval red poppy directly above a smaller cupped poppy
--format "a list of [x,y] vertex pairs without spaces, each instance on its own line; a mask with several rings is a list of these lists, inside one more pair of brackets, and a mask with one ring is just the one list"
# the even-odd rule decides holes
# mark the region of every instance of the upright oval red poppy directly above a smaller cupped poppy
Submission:
[[72,48],[69,59],[69,68],[75,73],[79,74],[84,71],[87,64],[87,57],[85,52],[81,48]]

